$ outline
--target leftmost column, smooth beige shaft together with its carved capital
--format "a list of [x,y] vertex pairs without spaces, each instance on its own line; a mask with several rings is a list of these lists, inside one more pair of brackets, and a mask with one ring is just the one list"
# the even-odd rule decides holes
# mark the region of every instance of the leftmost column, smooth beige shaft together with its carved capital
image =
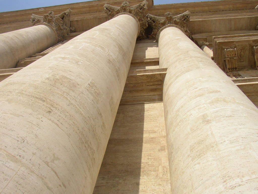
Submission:
[[71,10],[53,16],[32,15],[32,27],[0,34],[0,69],[15,68],[19,60],[40,53],[62,40],[70,27]]

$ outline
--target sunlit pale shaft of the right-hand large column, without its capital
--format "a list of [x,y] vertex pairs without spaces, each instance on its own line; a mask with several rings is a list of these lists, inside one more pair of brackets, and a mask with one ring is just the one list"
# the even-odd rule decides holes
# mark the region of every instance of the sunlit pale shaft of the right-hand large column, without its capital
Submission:
[[159,60],[172,193],[256,193],[258,109],[178,28]]

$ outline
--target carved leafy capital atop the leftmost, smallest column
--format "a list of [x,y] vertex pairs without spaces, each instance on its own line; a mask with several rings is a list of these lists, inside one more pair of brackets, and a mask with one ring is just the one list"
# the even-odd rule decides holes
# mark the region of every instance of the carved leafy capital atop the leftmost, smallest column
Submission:
[[70,27],[71,12],[72,10],[68,9],[65,12],[55,16],[53,11],[50,11],[44,16],[37,16],[32,14],[30,21],[33,25],[38,23],[47,23],[51,25],[57,32],[58,41],[63,41],[63,37],[65,35],[68,35],[71,32],[75,32],[75,28]]

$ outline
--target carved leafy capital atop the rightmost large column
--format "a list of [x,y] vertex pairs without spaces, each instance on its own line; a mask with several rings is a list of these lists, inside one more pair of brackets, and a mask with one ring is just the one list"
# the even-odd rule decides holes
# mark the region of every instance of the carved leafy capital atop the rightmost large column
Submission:
[[179,26],[183,29],[183,31],[186,33],[186,35],[191,38],[191,33],[187,28],[187,22],[190,20],[190,12],[186,11],[178,16],[172,17],[172,13],[167,12],[164,14],[165,18],[163,17],[157,17],[157,16],[153,16],[151,14],[147,14],[147,18],[148,18],[148,23],[149,25],[152,26],[153,30],[151,35],[149,36],[149,38],[156,38],[159,30],[166,26],[166,25],[176,25]]

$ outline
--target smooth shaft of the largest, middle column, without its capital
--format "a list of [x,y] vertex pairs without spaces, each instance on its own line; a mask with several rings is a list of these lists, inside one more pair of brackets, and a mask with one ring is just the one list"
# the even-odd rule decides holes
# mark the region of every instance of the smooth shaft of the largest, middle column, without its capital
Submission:
[[1,193],[93,192],[138,28],[117,16],[0,83]]

